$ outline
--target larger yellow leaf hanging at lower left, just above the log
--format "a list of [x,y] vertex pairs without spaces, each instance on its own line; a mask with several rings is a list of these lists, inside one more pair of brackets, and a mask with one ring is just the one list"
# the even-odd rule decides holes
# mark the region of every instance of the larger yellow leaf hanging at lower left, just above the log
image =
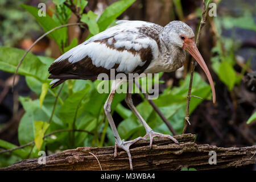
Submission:
[[49,123],[43,121],[35,121],[35,145],[40,150],[43,144],[44,133],[49,127]]

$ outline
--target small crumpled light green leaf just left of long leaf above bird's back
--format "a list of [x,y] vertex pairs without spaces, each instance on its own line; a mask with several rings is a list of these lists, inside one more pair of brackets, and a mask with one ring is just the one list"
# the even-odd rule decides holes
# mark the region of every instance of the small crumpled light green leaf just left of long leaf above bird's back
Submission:
[[97,16],[98,15],[94,14],[93,11],[89,11],[88,14],[83,14],[81,18],[81,22],[88,24],[89,31],[93,35],[98,34],[100,30],[96,22]]

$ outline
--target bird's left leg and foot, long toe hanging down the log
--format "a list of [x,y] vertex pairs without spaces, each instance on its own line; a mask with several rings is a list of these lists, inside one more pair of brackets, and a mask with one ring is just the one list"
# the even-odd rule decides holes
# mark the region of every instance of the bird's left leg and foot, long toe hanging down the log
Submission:
[[114,134],[114,138],[115,138],[115,149],[114,149],[114,158],[117,156],[117,147],[118,148],[122,148],[123,150],[126,151],[128,157],[129,157],[129,163],[130,163],[130,169],[133,170],[133,163],[131,161],[131,153],[130,153],[130,146],[131,144],[134,144],[135,142],[137,142],[140,139],[143,139],[142,137],[138,137],[134,140],[130,140],[130,141],[126,141],[122,140],[118,134],[117,131],[117,127],[115,127],[115,123],[113,121],[112,115],[111,115],[111,104],[113,101],[113,97],[115,94],[115,90],[112,90],[112,92],[110,92],[108,100],[106,100],[106,103],[104,105],[104,111],[106,114],[106,117],[108,118],[109,121],[109,125],[113,131]]

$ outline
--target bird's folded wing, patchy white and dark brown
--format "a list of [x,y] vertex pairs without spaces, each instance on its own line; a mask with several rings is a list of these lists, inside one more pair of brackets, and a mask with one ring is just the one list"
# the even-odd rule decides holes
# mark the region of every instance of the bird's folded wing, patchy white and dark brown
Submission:
[[49,78],[91,79],[100,73],[142,73],[159,55],[161,26],[128,21],[108,28],[56,59]]

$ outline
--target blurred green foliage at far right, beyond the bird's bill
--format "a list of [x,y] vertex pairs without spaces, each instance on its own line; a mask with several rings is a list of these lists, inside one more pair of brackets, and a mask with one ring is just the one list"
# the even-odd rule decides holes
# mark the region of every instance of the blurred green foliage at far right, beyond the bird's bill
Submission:
[[[237,63],[234,52],[240,47],[240,44],[238,42],[235,47],[234,42],[237,42],[237,40],[221,36],[222,28],[231,29],[233,27],[240,27],[255,31],[256,24],[249,11],[246,11],[243,16],[238,18],[220,16],[214,19],[214,23],[217,27],[218,40],[216,46],[212,48],[212,53],[215,55],[211,58],[212,68],[220,80],[227,86],[229,92],[233,92],[234,86],[240,85],[240,82],[242,81],[242,77],[245,74],[245,67],[242,68],[240,73],[236,72],[234,69],[234,65]],[[250,61],[247,62],[246,67],[249,67],[248,64],[250,64]],[[256,114],[254,113],[248,119],[247,123],[250,123],[255,119]]]

